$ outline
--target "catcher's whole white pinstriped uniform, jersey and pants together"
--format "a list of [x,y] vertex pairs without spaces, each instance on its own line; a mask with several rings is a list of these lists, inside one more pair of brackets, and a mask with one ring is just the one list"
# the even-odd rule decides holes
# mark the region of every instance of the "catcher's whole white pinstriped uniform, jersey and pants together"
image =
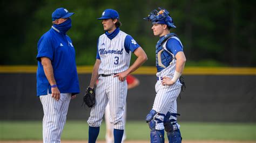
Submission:
[[[177,37],[171,37],[174,38],[176,40],[179,41],[181,47],[183,48],[183,45],[181,44],[181,41],[177,38]],[[166,40],[167,42],[168,40]],[[163,48],[166,51],[169,51],[166,48],[166,42],[164,42],[163,44]],[[170,54],[172,54],[170,52]],[[174,83],[173,85],[162,85],[161,84],[161,78],[166,76],[166,77],[170,77],[172,78],[175,72],[175,68],[176,68],[176,59],[173,56],[173,60],[170,63],[169,66],[167,66],[165,69],[161,70],[160,72],[158,72],[157,75],[157,83],[155,86],[156,89],[156,98],[154,99],[154,104],[153,104],[153,110],[156,110],[158,113],[163,113],[164,115],[166,115],[167,112],[171,112],[171,113],[177,113],[177,102],[176,99],[180,94],[180,90],[181,90],[181,83],[178,80],[176,83]],[[156,115],[156,118],[163,120],[164,116],[160,116],[160,115]],[[176,117],[171,116],[170,119],[175,119],[177,120]],[[177,123],[177,128],[179,128],[180,125]],[[156,130],[163,130],[164,129],[164,124],[160,123],[160,124],[156,124]]]

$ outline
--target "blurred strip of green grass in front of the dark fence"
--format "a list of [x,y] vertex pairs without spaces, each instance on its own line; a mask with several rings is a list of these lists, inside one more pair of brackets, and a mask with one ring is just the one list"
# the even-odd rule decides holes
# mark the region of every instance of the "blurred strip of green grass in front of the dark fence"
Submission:
[[[181,122],[184,140],[256,141],[255,123],[194,123]],[[149,127],[144,121],[127,121],[127,140],[149,140]],[[86,121],[67,121],[63,140],[86,140]],[[0,140],[41,140],[42,121],[0,121]],[[100,126],[99,140],[105,139],[105,124]]]

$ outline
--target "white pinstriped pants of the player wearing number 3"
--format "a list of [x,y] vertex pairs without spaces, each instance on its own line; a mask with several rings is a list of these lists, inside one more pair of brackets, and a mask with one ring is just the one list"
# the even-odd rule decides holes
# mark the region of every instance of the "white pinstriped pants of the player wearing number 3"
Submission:
[[96,104],[92,107],[87,123],[92,127],[99,127],[107,103],[110,105],[110,123],[118,130],[124,130],[124,106],[127,95],[127,82],[119,81],[118,77],[99,76],[95,90]]

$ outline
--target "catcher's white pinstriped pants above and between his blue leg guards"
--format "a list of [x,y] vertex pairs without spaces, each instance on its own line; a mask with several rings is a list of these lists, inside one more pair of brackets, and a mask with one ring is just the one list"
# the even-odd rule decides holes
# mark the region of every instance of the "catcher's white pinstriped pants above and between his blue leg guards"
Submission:
[[[177,81],[173,85],[162,85],[161,80],[158,80],[155,86],[157,95],[156,98],[154,98],[154,104],[152,109],[157,111],[158,113],[163,113],[164,115],[166,115],[168,111],[171,113],[177,113],[176,99],[180,94],[181,85],[182,84],[179,81]],[[164,120],[164,116],[156,115],[156,118]],[[170,119],[177,120],[177,118],[173,116],[171,116]],[[163,123],[156,124],[156,130],[163,129]]]

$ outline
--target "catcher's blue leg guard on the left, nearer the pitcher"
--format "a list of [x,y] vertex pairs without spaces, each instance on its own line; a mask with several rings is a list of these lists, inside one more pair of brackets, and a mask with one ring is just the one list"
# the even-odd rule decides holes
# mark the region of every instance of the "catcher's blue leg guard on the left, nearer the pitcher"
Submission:
[[154,120],[154,116],[156,115],[157,112],[155,110],[151,110],[146,117],[146,122],[149,124],[149,127],[151,129],[150,141],[151,143],[164,143],[164,134],[161,133],[161,130],[156,130],[156,121]]

